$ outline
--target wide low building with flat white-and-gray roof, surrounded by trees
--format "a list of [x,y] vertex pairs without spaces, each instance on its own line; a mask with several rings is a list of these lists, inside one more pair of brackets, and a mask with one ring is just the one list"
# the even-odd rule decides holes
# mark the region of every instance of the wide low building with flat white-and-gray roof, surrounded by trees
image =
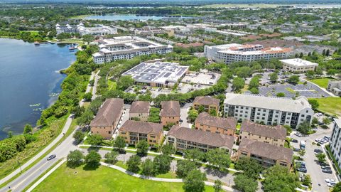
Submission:
[[136,83],[152,87],[173,87],[188,72],[188,66],[178,63],[140,63],[122,75],[130,75]]

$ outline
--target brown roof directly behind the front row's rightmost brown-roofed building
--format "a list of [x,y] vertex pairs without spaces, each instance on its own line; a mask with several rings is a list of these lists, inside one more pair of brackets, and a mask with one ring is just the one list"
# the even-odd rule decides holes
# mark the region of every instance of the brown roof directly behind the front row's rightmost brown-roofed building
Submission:
[[286,139],[286,128],[281,125],[269,126],[264,124],[257,124],[251,122],[249,119],[245,119],[240,126],[240,132],[249,132],[263,137],[269,137],[273,139]]

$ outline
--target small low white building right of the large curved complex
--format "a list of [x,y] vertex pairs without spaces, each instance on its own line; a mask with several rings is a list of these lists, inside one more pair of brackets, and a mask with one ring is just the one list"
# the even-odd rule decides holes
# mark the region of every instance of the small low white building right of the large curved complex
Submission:
[[313,63],[301,58],[283,59],[280,61],[283,63],[283,70],[296,73],[305,73],[308,70],[315,70],[315,68],[318,67],[318,63]]

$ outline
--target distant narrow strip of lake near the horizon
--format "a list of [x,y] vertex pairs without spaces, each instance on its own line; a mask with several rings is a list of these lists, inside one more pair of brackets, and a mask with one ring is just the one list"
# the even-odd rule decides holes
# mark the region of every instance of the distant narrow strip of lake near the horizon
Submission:
[[[178,16],[177,16],[178,17]],[[132,21],[132,20],[160,20],[162,18],[171,18],[171,16],[136,16],[136,15],[105,15],[105,16],[87,16],[85,19],[98,19],[107,21]],[[179,18],[188,18],[185,16],[179,16]]]

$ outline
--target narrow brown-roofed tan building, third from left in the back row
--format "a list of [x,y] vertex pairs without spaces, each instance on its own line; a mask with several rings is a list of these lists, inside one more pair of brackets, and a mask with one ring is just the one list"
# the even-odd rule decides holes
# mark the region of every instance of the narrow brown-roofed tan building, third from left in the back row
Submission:
[[160,112],[161,124],[179,124],[180,122],[180,103],[178,101],[161,102]]

